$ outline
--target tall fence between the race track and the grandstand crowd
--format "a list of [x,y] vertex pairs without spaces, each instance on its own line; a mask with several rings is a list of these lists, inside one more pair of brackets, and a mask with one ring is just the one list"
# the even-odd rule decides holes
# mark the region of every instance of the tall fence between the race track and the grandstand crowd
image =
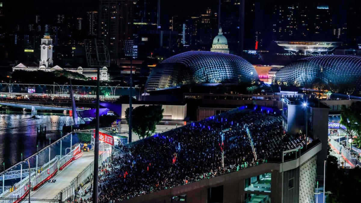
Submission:
[[[112,154],[112,150],[109,149],[100,153],[101,154],[99,155],[99,168],[101,167],[103,161],[108,159],[109,156]],[[60,193],[58,193],[53,199],[61,199],[63,202],[65,202],[69,198],[74,198],[77,187],[91,179],[93,170],[94,161],[92,161],[92,163],[90,163],[84,170],[82,170],[82,172],[80,172],[77,177],[70,181],[69,186],[62,189]]]

